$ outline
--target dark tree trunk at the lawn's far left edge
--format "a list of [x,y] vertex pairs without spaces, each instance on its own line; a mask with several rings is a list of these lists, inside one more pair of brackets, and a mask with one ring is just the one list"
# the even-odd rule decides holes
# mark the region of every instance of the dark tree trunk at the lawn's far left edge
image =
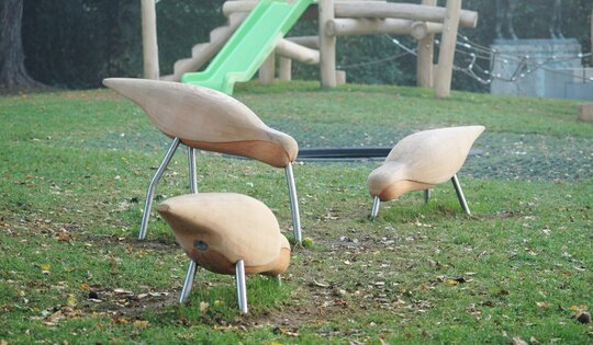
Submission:
[[33,89],[42,83],[29,77],[24,67],[21,23],[23,0],[2,0],[0,4],[0,88]]

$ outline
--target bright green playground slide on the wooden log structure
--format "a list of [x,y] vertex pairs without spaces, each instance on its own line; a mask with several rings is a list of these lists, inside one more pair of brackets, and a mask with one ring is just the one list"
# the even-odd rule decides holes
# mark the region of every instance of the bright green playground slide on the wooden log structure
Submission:
[[248,81],[313,0],[260,0],[226,45],[202,72],[181,81],[233,93]]

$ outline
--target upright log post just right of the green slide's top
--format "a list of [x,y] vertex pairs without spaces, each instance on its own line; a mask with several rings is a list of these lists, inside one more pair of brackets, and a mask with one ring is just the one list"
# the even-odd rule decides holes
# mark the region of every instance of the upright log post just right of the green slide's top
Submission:
[[322,88],[336,87],[336,36],[326,33],[327,22],[334,20],[334,0],[320,0],[320,72]]

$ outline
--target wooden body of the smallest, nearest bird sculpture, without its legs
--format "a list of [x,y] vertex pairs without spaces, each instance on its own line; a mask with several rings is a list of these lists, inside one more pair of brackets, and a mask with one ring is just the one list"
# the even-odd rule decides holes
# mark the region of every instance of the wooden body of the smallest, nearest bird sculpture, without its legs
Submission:
[[281,274],[290,262],[290,244],[272,211],[261,202],[234,193],[176,196],[157,207],[183,251],[200,266],[235,274]]

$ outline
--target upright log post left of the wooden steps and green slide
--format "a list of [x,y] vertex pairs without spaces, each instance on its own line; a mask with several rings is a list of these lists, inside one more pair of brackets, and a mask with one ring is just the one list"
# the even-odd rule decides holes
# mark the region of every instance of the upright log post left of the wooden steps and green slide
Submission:
[[158,79],[159,68],[155,0],[141,0],[141,5],[144,78]]

